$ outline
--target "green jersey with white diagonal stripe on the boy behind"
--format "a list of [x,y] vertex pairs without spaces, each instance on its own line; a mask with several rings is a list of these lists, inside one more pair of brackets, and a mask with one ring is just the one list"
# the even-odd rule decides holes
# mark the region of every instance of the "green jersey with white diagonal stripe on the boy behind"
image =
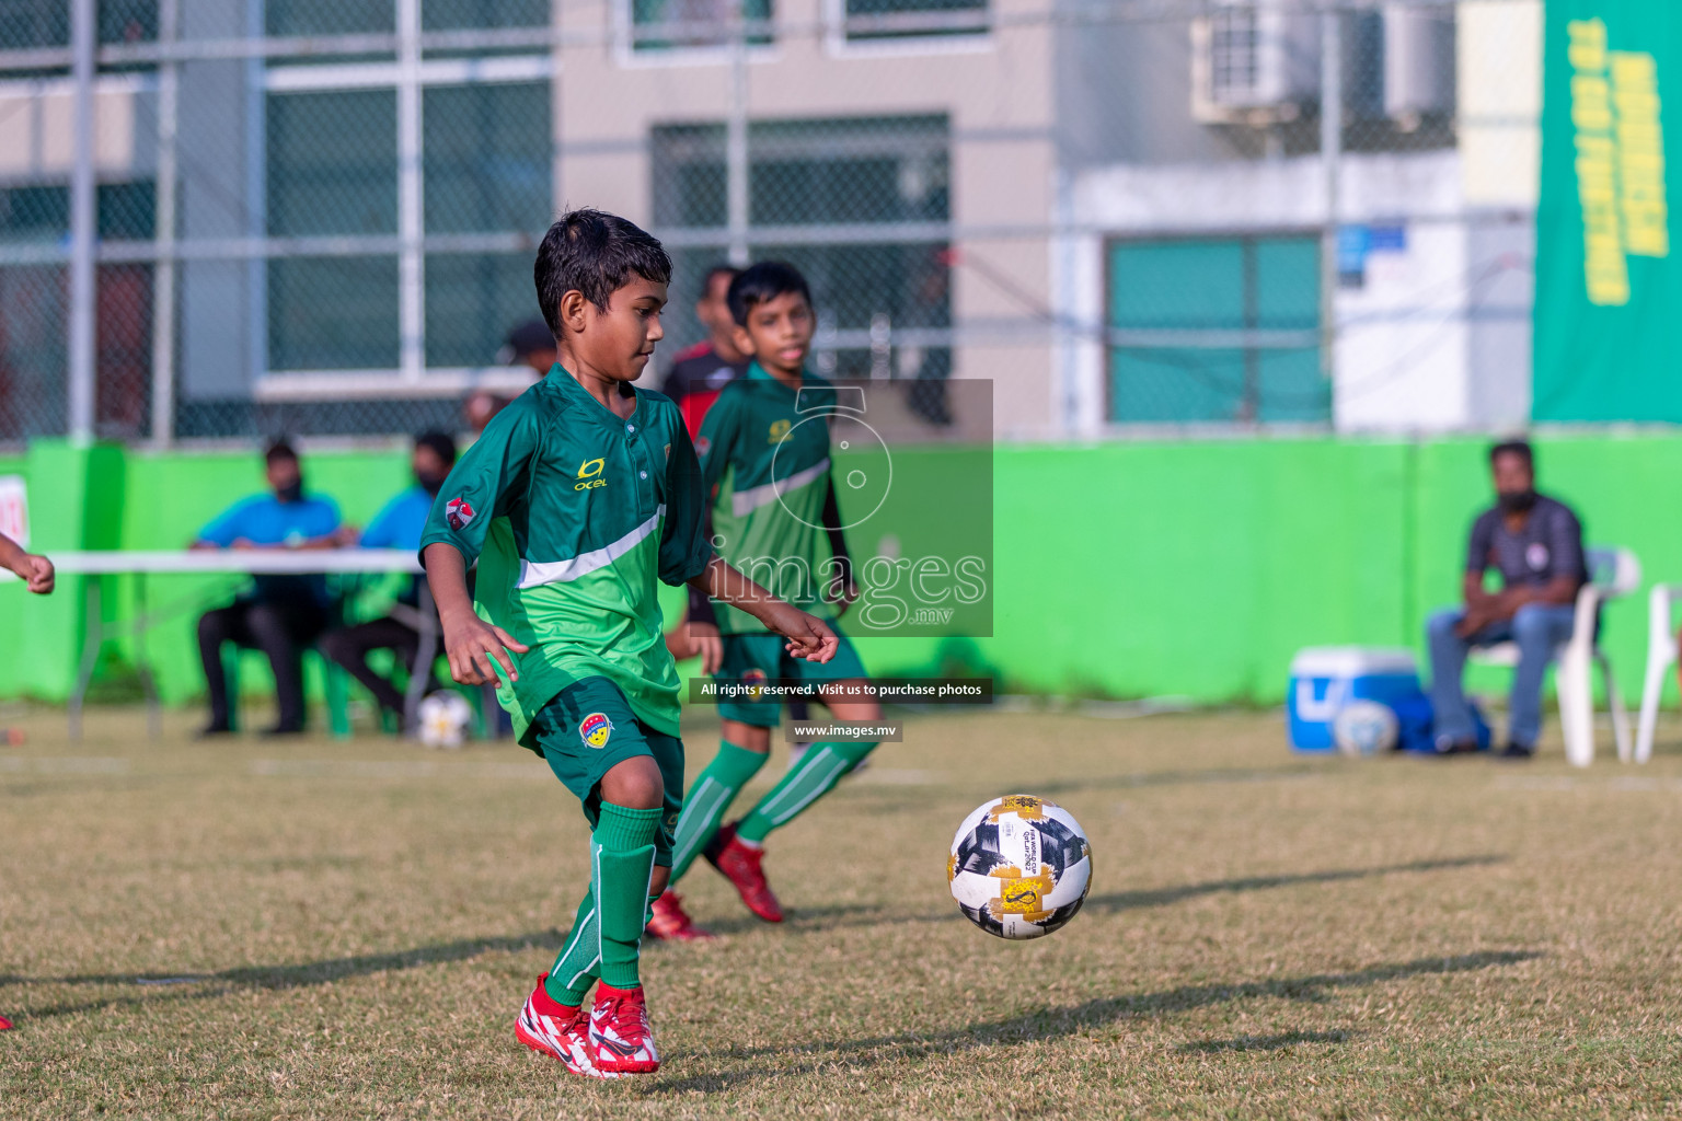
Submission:
[[[836,392],[804,375],[792,390],[757,361],[706,410],[696,450],[713,494],[718,555],[774,595],[821,618],[834,618],[828,587],[829,413]],[[717,491],[715,491],[717,487]],[[713,602],[720,634],[757,634],[765,625]]]

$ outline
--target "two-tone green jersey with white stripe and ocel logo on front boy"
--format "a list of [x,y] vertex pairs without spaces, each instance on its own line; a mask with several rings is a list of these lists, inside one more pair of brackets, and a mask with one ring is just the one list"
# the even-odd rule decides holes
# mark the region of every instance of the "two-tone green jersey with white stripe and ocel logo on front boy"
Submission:
[[[444,481],[426,546],[478,560],[474,607],[530,645],[498,699],[520,741],[580,677],[614,681],[637,719],[678,731],[678,672],[661,637],[656,576],[701,573],[706,491],[678,407],[632,388],[621,420],[558,365],[491,420]],[[535,750],[535,748],[533,748]]]

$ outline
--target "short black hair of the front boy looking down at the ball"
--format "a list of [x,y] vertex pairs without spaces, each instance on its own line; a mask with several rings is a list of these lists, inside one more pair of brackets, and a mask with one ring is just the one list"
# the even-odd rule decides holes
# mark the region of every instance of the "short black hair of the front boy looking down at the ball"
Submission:
[[537,247],[532,267],[537,303],[550,334],[560,338],[555,316],[562,296],[579,291],[607,311],[607,301],[631,281],[632,272],[654,284],[671,282],[671,257],[654,235],[616,213],[589,207],[560,215]]

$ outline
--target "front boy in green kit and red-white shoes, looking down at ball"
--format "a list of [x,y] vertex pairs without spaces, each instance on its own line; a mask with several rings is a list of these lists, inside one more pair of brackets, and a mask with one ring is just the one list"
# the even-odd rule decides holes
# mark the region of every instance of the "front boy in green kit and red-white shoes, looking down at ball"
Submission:
[[678,674],[654,580],[740,603],[791,657],[826,662],[836,635],[713,556],[683,417],[631,385],[663,338],[671,259],[659,242],[574,210],[545,235],[535,279],[558,361],[456,462],[420,560],[451,674],[496,681],[520,743],[592,829],[590,886],[515,1035],[574,1074],[619,1077],[659,1066],[637,955],[683,792]]

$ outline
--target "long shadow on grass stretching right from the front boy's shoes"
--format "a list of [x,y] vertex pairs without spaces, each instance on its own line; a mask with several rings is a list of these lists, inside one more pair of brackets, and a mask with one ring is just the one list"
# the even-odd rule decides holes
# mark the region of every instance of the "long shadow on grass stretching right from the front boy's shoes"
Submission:
[[[703,1074],[686,1079],[666,1079],[649,1084],[648,1089],[661,1094],[683,1094],[695,1089],[718,1091],[730,1089],[732,1086],[743,1084],[757,1077],[789,1077],[792,1074],[812,1074],[834,1067],[863,1069],[890,1060],[897,1062],[905,1059],[954,1055],[977,1047],[1080,1035],[1082,1032],[1103,1029],[1120,1020],[1154,1018],[1177,1012],[1206,1008],[1209,1005],[1233,1003],[1238,1000],[1278,998],[1320,1003],[1330,1000],[1330,995],[1342,988],[1366,988],[1367,985],[1408,980],[1413,976],[1470,973],[1494,966],[1519,965],[1541,956],[1542,953],[1532,950],[1504,950],[1463,953],[1450,958],[1415,958],[1413,961],[1373,965],[1364,970],[1351,970],[1347,973],[1310,973],[1307,976],[1275,978],[1267,982],[1238,982],[1230,985],[1181,985],[1154,993],[1103,997],[1061,1008],[1036,1008],[1033,1012],[1024,1012],[1002,1020],[989,1020],[950,1032],[934,1032],[927,1035],[905,1032],[898,1035],[875,1035],[839,1042],[752,1049],[732,1047],[713,1054],[722,1059],[745,1060],[747,1066],[760,1069]],[[1334,1040],[1334,1035],[1339,1039]],[[1342,1042],[1344,1034],[1329,1032],[1324,1039],[1319,1035],[1304,1035],[1297,1040],[1292,1040],[1290,1037],[1275,1039],[1285,1040],[1278,1044],[1280,1047],[1285,1047],[1290,1045],[1290,1042]],[[1253,1042],[1262,1044],[1267,1040]],[[1221,1044],[1214,1044],[1214,1049],[1221,1047]],[[762,1067],[759,1059],[765,1055],[811,1055],[811,1060],[801,1062],[794,1067],[789,1064]]]

